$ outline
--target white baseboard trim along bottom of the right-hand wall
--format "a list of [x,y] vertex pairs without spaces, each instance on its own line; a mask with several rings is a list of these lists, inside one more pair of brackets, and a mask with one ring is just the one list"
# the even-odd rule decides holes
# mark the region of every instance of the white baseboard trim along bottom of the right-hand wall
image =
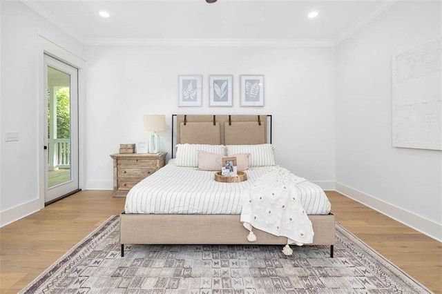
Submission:
[[350,188],[349,186],[345,186],[344,184],[336,182],[335,186],[336,191],[345,195],[346,197],[349,197],[356,202],[372,208],[379,213],[382,213],[383,215],[387,215],[387,217],[391,217],[392,219],[405,224],[405,226],[414,228],[414,230],[419,231],[427,235],[428,237],[442,242],[441,224],[437,224],[430,219],[426,219],[425,217],[421,217],[420,215],[411,213],[410,211],[384,202],[381,199],[377,199],[372,195],[368,195],[354,188]]

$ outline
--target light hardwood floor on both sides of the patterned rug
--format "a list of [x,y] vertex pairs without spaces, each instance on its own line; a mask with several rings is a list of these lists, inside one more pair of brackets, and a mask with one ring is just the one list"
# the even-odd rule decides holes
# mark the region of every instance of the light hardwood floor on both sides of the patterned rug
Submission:
[[[442,244],[354,202],[327,192],[336,221],[406,273],[442,293]],[[17,293],[124,208],[111,191],[81,191],[0,228],[0,292]]]

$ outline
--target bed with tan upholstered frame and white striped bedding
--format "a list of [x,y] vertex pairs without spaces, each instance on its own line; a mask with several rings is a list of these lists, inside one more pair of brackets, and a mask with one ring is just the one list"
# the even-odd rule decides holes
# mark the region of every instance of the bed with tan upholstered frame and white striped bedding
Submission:
[[[271,116],[174,115],[173,125],[175,158],[135,185],[126,196],[119,224],[122,257],[125,244],[287,244],[287,237],[256,228],[256,241],[250,242],[249,231],[240,222],[241,191],[278,166],[267,166],[269,159],[264,155],[251,157],[254,161],[249,159],[250,166],[245,170],[248,179],[239,183],[216,182],[213,170],[198,169],[204,148],[209,148],[207,153],[216,153],[219,146],[227,146],[232,153],[246,148],[254,154],[261,152],[261,148],[270,148]],[[329,212],[328,199],[315,184],[302,178],[296,181],[297,193],[314,231],[313,242],[306,245],[330,246],[333,257],[335,217]],[[195,197],[204,202],[201,204]]]

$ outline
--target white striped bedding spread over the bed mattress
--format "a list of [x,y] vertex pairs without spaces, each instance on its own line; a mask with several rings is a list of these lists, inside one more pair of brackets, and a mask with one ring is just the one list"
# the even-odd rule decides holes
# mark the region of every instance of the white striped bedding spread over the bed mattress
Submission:
[[[176,166],[173,160],[135,185],[126,196],[125,213],[240,215],[241,191],[274,166],[246,170],[247,181],[221,183],[215,172]],[[324,191],[305,179],[296,185],[308,215],[327,215],[330,202]]]

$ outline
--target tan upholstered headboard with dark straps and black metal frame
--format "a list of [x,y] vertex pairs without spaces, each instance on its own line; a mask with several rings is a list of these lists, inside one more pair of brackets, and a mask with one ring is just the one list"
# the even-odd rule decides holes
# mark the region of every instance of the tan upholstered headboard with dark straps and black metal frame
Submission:
[[271,115],[173,115],[173,129],[174,124],[172,153],[176,144],[271,143]]

